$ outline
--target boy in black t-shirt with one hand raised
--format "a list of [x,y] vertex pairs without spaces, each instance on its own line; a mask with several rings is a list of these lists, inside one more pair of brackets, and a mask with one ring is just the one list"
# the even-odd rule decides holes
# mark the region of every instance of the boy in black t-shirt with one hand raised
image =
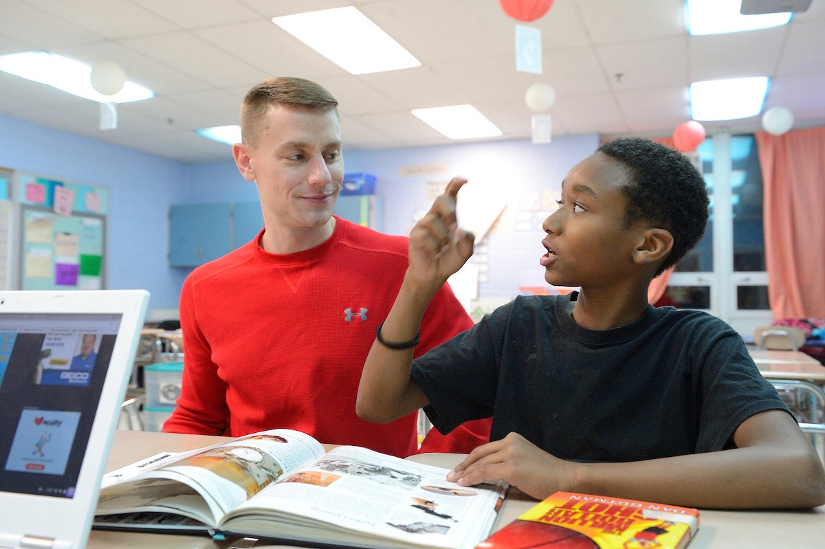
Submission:
[[705,182],[681,153],[603,143],[544,220],[544,279],[573,296],[516,298],[413,363],[427,303],[473,251],[455,178],[413,228],[409,266],[367,357],[356,409],[425,407],[448,431],[492,416],[493,442],[447,476],[705,508],[825,503],[825,470],[742,338],[704,312],[654,308],[648,285],[695,246]]

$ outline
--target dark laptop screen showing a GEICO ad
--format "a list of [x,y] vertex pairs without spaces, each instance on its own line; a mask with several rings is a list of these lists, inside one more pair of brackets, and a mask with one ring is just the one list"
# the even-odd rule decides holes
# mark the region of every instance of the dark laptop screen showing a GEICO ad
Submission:
[[73,498],[121,317],[0,314],[0,490]]

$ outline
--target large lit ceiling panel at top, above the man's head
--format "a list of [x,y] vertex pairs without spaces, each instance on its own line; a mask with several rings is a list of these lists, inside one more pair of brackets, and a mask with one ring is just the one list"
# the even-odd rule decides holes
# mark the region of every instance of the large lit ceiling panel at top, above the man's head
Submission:
[[421,65],[355,7],[272,17],[272,22],[352,74]]

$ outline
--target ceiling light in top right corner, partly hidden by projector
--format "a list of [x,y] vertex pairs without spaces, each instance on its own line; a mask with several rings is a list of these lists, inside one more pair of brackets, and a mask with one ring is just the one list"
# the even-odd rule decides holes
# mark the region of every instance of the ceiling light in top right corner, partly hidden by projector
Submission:
[[742,15],[742,0],[687,0],[687,30],[691,35],[719,35],[740,30],[768,29],[790,21],[791,12]]

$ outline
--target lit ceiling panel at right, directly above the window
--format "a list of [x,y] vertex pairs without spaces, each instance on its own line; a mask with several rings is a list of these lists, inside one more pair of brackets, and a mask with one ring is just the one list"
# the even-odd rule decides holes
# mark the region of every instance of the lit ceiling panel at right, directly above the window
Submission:
[[736,120],[756,116],[765,104],[768,77],[707,80],[691,84],[693,120]]

